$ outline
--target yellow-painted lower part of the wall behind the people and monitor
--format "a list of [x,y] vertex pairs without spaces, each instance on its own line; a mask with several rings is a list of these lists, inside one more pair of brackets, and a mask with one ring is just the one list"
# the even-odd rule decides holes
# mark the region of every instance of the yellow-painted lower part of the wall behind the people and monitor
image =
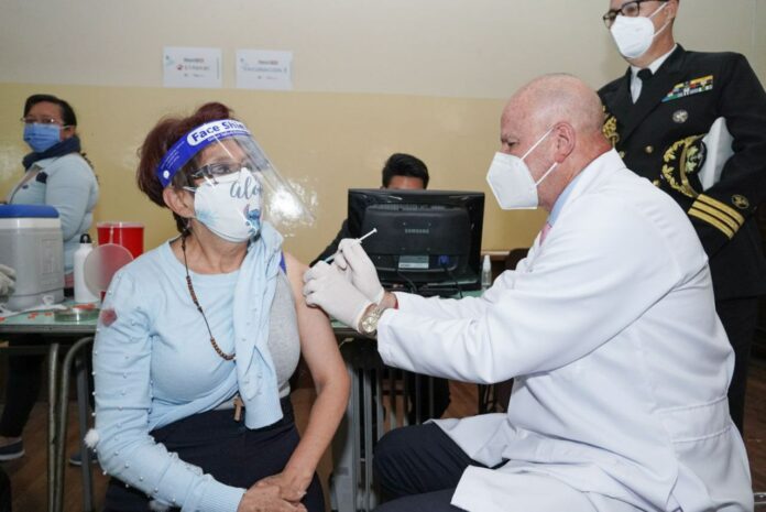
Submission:
[[488,194],[484,250],[529,246],[545,219],[541,211],[502,211],[486,186],[504,101],[393,95],[0,84],[0,197],[20,178],[29,151],[22,124],[13,120],[21,118],[24,99],[37,92],[59,96],[77,112],[101,187],[96,220],[143,222],[147,249],[173,236],[175,225],[169,210],[138,190],[136,150],[162,116],[190,112],[210,100],[234,109],[283,176],[314,205],[315,226],[285,243],[303,261],[335,237],[346,218],[346,190],[379,186],[383,162],[394,152],[426,162],[429,188]]

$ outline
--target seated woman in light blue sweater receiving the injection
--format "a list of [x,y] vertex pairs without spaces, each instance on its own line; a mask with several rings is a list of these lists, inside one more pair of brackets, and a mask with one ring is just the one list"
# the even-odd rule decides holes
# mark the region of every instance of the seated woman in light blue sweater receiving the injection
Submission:
[[[306,266],[262,215],[265,155],[221,104],[161,121],[139,188],[180,236],[121,269],[94,346],[107,511],[324,511],[316,467],[349,378]],[[289,377],[303,353],[317,397],[303,438]],[[242,407],[244,407],[242,410]]]

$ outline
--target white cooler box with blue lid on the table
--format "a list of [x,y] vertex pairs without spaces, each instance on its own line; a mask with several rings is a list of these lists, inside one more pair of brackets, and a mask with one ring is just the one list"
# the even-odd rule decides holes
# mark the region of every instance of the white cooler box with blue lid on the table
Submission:
[[17,271],[9,309],[64,301],[64,240],[58,211],[51,206],[0,205],[0,263]]

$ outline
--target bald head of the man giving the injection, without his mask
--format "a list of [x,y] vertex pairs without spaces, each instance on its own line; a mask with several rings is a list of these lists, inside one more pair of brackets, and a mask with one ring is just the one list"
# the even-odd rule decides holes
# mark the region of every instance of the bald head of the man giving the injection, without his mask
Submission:
[[501,118],[501,152],[523,159],[538,183],[539,206],[550,210],[563,188],[610,150],[599,96],[579,78],[554,74],[518,89]]

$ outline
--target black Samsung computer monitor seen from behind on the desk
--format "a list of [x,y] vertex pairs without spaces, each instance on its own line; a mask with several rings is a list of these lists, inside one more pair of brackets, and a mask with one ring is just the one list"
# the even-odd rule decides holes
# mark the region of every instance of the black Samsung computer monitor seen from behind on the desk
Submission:
[[484,194],[351,188],[349,231],[359,238],[383,286],[422,295],[481,287]]

